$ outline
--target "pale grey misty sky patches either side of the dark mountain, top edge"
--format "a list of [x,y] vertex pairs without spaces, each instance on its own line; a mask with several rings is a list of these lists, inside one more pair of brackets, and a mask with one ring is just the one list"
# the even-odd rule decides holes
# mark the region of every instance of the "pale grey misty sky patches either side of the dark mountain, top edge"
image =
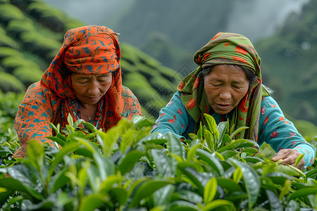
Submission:
[[[134,0],[45,0],[61,8],[68,15],[79,18],[87,24],[106,25],[115,13],[125,10]],[[144,0],[149,1],[149,0]],[[176,1],[176,0],[171,0]],[[244,4],[241,2],[244,1]],[[246,1],[249,4],[245,6]],[[291,12],[300,12],[309,0],[237,0],[227,31],[242,33],[252,41],[270,35],[281,25]]]

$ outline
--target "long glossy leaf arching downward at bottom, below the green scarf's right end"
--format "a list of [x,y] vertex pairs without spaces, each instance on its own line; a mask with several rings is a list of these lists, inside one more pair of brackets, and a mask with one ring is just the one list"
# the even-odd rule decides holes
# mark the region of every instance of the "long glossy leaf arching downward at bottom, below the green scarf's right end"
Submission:
[[259,175],[256,171],[249,165],[241,162],[239,160],[234,160],[229,158],[229,160],[236,166],[240,167],[243,174],[244,185],[248,193],[249,198],[249,208],[253,207],[254,203],[256,203],[256,199],[259,196],[261,182],[259,179]]

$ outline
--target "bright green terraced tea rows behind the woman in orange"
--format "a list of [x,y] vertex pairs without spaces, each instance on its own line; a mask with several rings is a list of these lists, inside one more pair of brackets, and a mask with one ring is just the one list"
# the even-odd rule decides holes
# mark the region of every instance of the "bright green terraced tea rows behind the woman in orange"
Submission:
[[[0,89],[20,93],[41,79],[66,31],[83,25],[44,1],[0,0]],[[137,96],[144,115],[154,119],[180,74],[130,44],[120,46],[123,84]]]

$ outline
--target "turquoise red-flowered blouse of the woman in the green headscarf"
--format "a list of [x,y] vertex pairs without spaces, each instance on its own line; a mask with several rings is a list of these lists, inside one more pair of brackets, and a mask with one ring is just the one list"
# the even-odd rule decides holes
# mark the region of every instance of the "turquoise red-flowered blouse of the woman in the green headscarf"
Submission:
[[[212,114],[216,123],[227,121],[228,115]],[[189,139],[189,133],[197,133],[199,124],[194,121],[182,103],[180,92],[176,92],[165,108],[159,113],[151,132],[162,134],[172,133],[177,139]],[[294,124],[287,120],[278,106],[278,103],[271,97],[261,99],[261,113],[259,117],[259,139],[258,144],[262,146],[266,142],[270,144],[277,153],[282,148],[292,148],[299,153],[305,154],[306,167],[313,164],[315,160],[315,149],[305,141],[303,136],[297,132]]]

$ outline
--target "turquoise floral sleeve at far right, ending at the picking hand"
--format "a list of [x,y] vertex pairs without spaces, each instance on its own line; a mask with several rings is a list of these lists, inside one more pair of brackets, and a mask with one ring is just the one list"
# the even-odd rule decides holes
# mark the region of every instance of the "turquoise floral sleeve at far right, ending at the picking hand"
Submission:
[[294,124],[285,118],[278,103],[271,96],[262,99],[259,136],[259,145],[265,141],[276,153],[282,148],[292,148],[305,154],[306,167],[311,166],[315,160],[313,146],[297,132]]

